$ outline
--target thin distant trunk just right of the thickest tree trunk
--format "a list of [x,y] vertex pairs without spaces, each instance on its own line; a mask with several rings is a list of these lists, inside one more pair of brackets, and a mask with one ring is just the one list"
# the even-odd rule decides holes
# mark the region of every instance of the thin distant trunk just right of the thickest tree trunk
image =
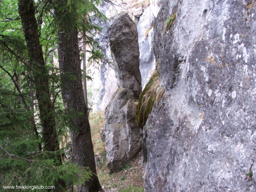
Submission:
[[[84,35],[85,35],[86,31],[84,30]],[[83,77],[83,83],[84,83],[84,101],[87,107],[87,115],[88,118],[90,116],[90,109],[88,106],[88,98],[87,98],[87,83],[86,83],[86,37],[83,37],[83,70],[84,70],[84,77]]]

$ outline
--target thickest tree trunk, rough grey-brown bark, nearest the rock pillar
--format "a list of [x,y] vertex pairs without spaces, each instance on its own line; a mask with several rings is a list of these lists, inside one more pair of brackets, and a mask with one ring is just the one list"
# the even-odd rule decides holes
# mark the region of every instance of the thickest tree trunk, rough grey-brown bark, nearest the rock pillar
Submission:
[[[75,24],[76,21],[66,6],[66,0],[56,1],[56,23],[58,30],[58,57],[60,71],[62,74],[62,98],[64,106],[70,114],[70,136],[72,138],[72,152],[74,163],[79,166],[89,167],[94,174],[92,178],[78,186],[78,192],[98,192],[102,190],[96,175],[96,165],[90,124],[87,116],[87,107],[84,101],[82,71],[79,59],[78,30],[76,25],[67,28],[61,23],[61,18],[65,15],[69,22]],[[60,9],[62,7],[62,9]]]

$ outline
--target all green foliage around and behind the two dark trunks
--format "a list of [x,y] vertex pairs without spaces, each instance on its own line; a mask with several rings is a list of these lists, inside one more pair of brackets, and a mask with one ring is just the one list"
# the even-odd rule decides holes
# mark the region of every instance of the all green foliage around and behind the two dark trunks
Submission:
[[[72,6],[77,7],[78,11],[73,12],[74,20],[77,22],[66,21],[65,23],[81,31],[82,28],[86,28],[86,43],[91,46],[91,50],[88,51],[92,54],[90,60],[103,59],[100,46],[92,38],[101,29],[91,20],[92,17],[106,19],[96,7],[100,1],[69,0],[68,3],[69,9],[72,9]],[[34,6],[60,142],[69,136],[68,128],[72,114],[67,115],[64,110],[60,94],[60,70],[54,62],[58,58],[56,52],[58,26],[54,20],[54,4],[52,1],[35,1]],[[86,22],[84,17],[87,19]],[[1,188],[4,185],[54,185],[59,179],[66,182],[66,186],[69,187],[82,184],[92,176],[88,168],[79,167],[68,160],[62,161],[63,164],[57,166],[60,157],[65,159],[64,156],[67,154],[64,148],[56,152],[40,149],[39,145],[44,145],[44,141],[32,70],[29,66],[28,49],[22,32],[18,2],[1,0],[0,191],[4,190]],[[72,74],[65,75],[70,79],[73,78]],[[75,112],[74,115],[76,115]],[[62,147],[65,145],[66,143],[62,144]]]

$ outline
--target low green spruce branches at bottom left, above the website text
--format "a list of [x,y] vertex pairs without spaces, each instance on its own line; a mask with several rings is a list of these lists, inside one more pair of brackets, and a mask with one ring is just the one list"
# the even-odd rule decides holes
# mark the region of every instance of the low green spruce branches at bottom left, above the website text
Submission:
[[[5,149],[2,149],[1,153],[0,167],[4,173],[1,176],[3,186],[34,186],[39,184],[54,186],[59,179],[66,184],[71,181],[72,184],[81,184],[92,176],[88,168],[79,167],[76,164],[56,166],[58,160],[56,161],[54,158],[58,159],[58,156],[63,153],[62,150],[54,152],[54,154],[50,152],[31,154],[26,158],[10,156]],[[49,156],[54,158],[49,158]]]

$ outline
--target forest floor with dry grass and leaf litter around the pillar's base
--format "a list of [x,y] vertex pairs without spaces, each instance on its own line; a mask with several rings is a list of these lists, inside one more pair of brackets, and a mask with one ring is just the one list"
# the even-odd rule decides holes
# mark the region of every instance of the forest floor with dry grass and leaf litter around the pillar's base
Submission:
[[104,113],[90,113],[94,154],[97,156],[97,174],[105,192],[144,192],[142,180],[142,151],[126,164],[120,172],[109,174],[106,167],[105,146],[100,138],[104,126]]

